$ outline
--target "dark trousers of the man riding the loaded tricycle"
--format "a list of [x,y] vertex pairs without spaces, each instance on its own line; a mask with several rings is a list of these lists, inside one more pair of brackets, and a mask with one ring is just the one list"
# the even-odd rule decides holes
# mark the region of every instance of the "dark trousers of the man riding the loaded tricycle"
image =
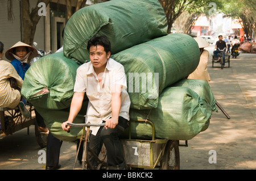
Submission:
[[[118,125],[127,128],[128,121],[119,116]],[[104,143],[107,151],[108,167],[109,169],[125,169],[125,159],[123,158],[122,145],[119,141],[119,136],[122,133],[121,129],[115,127],[114,129],[106,129],[101,127],[96,135],[91,134],[89,147],[96,153],[100,154],[102,145]],[[97,166],[97,160],[89,154],[89,160],[92,166]]]

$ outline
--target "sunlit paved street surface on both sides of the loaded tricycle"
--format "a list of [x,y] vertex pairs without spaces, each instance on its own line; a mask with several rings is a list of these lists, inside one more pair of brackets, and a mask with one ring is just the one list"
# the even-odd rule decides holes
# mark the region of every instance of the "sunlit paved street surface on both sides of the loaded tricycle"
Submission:
[[[256,54],[240,54],[231,58],[230,68],[221,70],[220,64],[212,68],[210,52],[208,71],[210,87],[217,102],[231,117],[227,119],[218,109],[212,114],[209,128],[188,141],[188,147],[180,147],[181,170],[206,169],[256,169]],[[34,136],[34,127],[0,137],[0,169],[45,169],[38,163],[39,147]],[[216,163],[209,157],[216,153]],[[63,142],[60,154],[61,169],[72,169],[76,145]],[[211,157],[212,158],[212,157]]]

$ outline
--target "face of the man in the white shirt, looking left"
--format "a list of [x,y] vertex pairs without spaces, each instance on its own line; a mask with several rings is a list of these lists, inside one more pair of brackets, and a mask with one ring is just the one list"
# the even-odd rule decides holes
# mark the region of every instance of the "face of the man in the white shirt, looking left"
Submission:
[[106,53],[104,50],[104,47],[102,47],[101,45],[97,45],[97,47],[96,46],[90,47],[89,54],[90,54],[90,62],[92,62],[94,70],[105,69],[106,62],[110,57],[110,52]]

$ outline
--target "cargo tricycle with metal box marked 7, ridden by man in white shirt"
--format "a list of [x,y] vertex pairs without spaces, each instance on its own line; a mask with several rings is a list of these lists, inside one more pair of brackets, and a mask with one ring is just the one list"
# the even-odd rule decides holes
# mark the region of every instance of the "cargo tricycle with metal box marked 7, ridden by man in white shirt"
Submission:
[[[187,141],[185,145],[179,145],[179,140],[166,140],[166,139],[156,139],[155,138],[155,126],[149,120],[130,120],[129,124],[133,124],[133,121],[140,121],[144,124],[150,124],[152,126],[152,138],[150,140],[137,140],[131,138],[131,127],[129,126],[129,138],[120,139],[123,146],[123,154],[125,157],[125,162],[127,169],[163,169],[163,170],[178,170],[180,169],[180,155],[179,146],[187,146]],[[73,124],[68,123],[71,127],[83,127],[83,134],[80,137],[79,148],[77,149],[77,155],[79,153],[81,142],[84,142],[84,151],[82,157],[82,168],[80,169],[92,169],[90,162],[88,161],[88,151],[92,153],[89,148],[89,137],[91,131],[90,127],[93,126],[104,126],[105,124]],[[85,130],[86,127],[86,130]],[[98,161],[97,169],[107,169],[107,164],[105,162],[106,151],[102,155],[98,156],[92,153]],[[73,169],[76,168],[76,161]]]

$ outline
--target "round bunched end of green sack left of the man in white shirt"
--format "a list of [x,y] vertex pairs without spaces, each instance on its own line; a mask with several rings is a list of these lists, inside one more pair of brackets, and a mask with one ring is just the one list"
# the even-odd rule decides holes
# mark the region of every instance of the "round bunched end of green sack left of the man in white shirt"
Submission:
[[27,70],[21,94],[36,107],[67,108],[74,94],[77,68],[79,64],[65,57],[63,52],[39,58]]

